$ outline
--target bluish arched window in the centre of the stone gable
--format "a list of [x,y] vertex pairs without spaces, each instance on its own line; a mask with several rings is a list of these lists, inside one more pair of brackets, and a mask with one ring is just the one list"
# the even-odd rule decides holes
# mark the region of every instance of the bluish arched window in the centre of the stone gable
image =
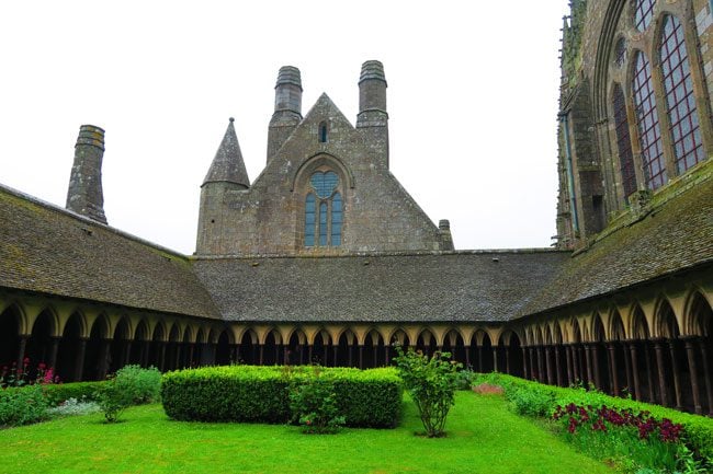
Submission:
[[333,171],[317,171],[309,177],[305,198],[305,246],[341,245],[343,203],[339,176]]

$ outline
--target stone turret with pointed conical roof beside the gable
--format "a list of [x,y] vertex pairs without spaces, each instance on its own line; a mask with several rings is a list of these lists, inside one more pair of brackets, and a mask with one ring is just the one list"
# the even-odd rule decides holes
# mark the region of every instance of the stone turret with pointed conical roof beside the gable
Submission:
[[206,247],[219,247],[220,232],[226,224],[226,200],[231,194],[245,192],[250,187],[234,122],[230,117],[223,141],[201,185],[196,248],[199,253]]

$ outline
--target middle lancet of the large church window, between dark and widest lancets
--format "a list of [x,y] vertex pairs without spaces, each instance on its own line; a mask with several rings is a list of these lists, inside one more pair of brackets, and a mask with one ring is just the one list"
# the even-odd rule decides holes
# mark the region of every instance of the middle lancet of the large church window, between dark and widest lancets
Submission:
[[638,141],[644,162],[644,175],[648,187],[656,189],[666,183],[666,169],[664,166],[661,130],[656,112],[652,66],[642,51],[636,53],[634,65],[632,85],[636,107]]

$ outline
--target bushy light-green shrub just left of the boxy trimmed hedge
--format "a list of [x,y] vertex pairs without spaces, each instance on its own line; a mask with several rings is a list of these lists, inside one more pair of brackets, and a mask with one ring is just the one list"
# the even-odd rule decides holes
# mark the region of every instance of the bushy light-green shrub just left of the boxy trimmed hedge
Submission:
[[125,366],[100,385],[97,392],[99,407],[106,423],[114,423],[132,405],[157,401],[160,396],[161,373],[157,368],[142,369]]

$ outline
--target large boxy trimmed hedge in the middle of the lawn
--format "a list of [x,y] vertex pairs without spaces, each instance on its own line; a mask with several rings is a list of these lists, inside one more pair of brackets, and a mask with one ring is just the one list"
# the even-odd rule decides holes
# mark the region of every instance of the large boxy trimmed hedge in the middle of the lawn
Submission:
[[394,369],[230,366],[163,374],[166,414],[179,420],[287,423],[288,388],[316,377],[333,381],[347,426],[393,428],[401,411],[401,380]]

